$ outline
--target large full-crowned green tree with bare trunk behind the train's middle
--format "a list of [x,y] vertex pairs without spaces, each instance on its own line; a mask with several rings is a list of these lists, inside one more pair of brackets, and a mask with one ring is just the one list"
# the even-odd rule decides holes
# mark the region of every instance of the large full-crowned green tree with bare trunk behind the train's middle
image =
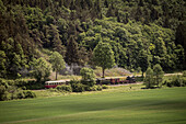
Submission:
[[102,67],[103,77],[105,69],[115,66],[114,52],[107,43],[98,43],[98,45],[93,50],[93,59],[96,66]]

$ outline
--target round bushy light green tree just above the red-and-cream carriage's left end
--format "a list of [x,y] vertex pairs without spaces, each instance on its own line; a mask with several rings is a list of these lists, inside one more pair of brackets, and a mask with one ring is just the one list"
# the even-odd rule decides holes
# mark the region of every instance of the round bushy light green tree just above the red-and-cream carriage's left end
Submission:
[[38,82],[49,77],[51,67],[44,58],[34,59],[31,66],[33,67],[31,74]]

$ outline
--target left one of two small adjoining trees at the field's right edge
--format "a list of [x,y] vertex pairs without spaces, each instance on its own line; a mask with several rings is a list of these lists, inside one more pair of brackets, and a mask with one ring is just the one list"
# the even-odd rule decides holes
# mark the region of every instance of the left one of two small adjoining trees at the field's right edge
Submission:
[[146,88],[153,88],[155,84],[153,79],[153,70],[150,67],[146,71],[144,84]]

